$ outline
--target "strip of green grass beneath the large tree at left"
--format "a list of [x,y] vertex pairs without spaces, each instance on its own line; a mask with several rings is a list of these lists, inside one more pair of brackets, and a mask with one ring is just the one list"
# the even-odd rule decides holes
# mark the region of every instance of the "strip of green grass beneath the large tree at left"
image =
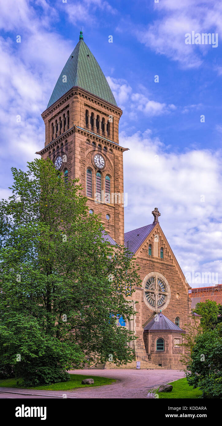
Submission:
[[[35,386],[32,388],[25,388],[22,386],[22,379],[2,379],[0,380],[0,387],[2,388],[20,388],[20,389],[43,389],[46,391],[68,391],[76,388],[92,388],[94,386],[110,385],[115,382],[115,379],[98,376],[85,376],[83,374],[69,374],[69,382],[54,383],[47,386]],[[93,379],[92,385],[82,385],[81,381],[84,379]],[[18,382],[18,383],[17,383]]]

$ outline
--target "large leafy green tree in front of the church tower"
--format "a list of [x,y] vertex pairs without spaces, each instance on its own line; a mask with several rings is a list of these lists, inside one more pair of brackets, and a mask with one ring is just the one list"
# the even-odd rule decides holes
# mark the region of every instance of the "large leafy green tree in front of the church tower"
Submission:
[[12,169],[12,196],[0,203],[0,371],[26,385],[68,380],[84,363],[127,363],[135,337],[125,297],[140,285],[124,247],[105,241],[78,181],[47,159]]

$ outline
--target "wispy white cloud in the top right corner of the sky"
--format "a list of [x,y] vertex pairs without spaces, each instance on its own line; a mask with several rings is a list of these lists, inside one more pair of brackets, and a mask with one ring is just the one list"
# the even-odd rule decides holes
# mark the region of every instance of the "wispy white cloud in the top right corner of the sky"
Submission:
[[[221,37],[222,6],[213,0],[165,0],[153,2],[158,19],[136,31],[138,40],[156,53],[179,61],[185,68],[198,68],[212,46],[186,45],[185,34],[218,33]],[[216,49],[213,49],[216,50]],[[218,69],[218,72],[219,69]]]

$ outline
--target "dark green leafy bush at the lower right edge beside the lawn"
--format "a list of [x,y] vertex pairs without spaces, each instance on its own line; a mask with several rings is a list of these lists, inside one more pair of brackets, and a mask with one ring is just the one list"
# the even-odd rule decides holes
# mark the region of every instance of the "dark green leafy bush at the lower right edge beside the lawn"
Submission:
[[214,330],[206,330],[196,337],[187,382],[203,391],[204,398],[222,398],[222,323]]

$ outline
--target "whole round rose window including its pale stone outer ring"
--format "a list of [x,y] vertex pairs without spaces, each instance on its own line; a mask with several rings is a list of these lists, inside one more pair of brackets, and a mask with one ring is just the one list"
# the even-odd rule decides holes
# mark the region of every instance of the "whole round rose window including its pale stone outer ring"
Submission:
[[145,302],[153,311],[165,309],[170,302],[170,286],[163,275],[149,273],[144,279]]

